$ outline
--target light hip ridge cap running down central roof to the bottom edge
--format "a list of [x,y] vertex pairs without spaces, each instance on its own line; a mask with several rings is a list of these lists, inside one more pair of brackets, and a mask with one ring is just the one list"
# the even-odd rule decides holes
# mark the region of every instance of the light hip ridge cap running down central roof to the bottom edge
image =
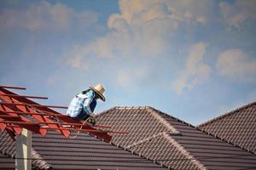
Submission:
[[201,163],[201,161],[199,161],[198,159],[195,158],[195,156],[193,156],[189,150],[186,150],[182,144],[179,144],[177,142],[177,140],[173,139],[172,136],[170,136],[168,133],[163,133],[163,136],[164,138],[166,138],[170,143],[172,143],[176,148],[177,150],[179,150],[183,156],[186,156],[189,161],[191,161],[192,163],[195,164],[195,166],[197,166],[199,169],[202,169],[202,170],[206,170],[207,167],[204,166],[203,163]]

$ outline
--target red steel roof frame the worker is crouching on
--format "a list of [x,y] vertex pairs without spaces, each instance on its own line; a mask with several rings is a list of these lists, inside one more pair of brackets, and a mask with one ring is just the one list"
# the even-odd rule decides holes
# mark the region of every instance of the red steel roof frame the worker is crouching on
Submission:
[[[15,94],[6,88],[22,89],[26,88],[13,86],[0,86],[0,129],[5,130],[12,139],[15,135],[20,135],[21,129],[26,128],[33,133],[45,135],[48,130],[55,130],[64,136],[69,136],[71,132],[91,133],[100,139],[110,142],[111,136],[108,133],[125,133],[118,131],[102,131],[95,127],[109,127],[109,126],[90,126],[87,123],[81,123],[73,120],[69,116],[49,109],[61,108],[67,109],[64,106],[55,105],[40,105],[30,99],[48,99],[38,96],[26,96]],[[59,120],[54,121],[53,118]],[[67,128],[67,126],[69,126]]]

